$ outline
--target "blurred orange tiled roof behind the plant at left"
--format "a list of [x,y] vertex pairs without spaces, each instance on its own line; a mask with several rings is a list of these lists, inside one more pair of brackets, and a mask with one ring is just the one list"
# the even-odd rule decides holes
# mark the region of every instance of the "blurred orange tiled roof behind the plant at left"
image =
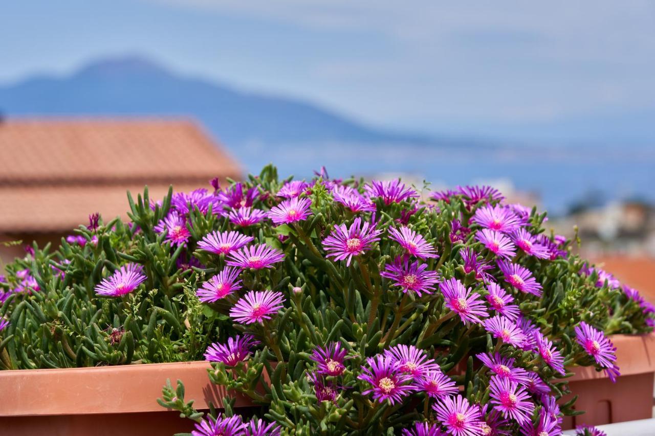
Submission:
[[161,198],[241,175],[193,122],[139,118],[0,122],[0,166],[0,233],[66,232],[95,211],[126,217],[143,185]]

